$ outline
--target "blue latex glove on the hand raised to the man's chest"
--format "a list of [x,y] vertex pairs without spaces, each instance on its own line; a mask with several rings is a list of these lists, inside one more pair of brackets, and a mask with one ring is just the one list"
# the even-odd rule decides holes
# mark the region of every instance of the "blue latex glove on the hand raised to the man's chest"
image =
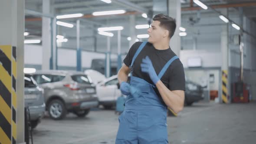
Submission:
[[141,71],[148,73],[150,79],[154,82],[154,84],[156,84],[160,80],[148,56],[146,56],[145,59],[142,59]]

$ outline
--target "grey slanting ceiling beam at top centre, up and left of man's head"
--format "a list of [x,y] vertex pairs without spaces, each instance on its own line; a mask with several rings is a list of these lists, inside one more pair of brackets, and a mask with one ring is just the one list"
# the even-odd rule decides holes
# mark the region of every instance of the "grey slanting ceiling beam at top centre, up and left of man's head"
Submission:
[[136,10],[140,13],[148,13],[148,9],[144,8],[144,7],[141,7],[141,6],[138,6],[137,4],[135,3],[131,3],[129,2],[128,0],[112,0],[113,3],[116,3],[120,6],[123,6],[123,7],[126,7],[128,9],[131,9],[131,10]]

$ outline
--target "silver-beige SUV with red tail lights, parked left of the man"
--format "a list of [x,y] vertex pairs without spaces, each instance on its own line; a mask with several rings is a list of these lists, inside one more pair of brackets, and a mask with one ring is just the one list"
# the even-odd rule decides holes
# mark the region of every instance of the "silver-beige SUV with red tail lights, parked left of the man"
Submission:
[[65,118],[67,112],[85,117],[98,106],[95,85],[83,72],[37,71],[33,78],[44,89],[46,110],[54,120]]

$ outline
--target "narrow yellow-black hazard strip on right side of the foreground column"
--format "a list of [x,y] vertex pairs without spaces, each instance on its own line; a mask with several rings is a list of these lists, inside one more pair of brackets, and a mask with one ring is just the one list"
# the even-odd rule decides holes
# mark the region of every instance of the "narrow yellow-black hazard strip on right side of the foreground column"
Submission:
[[17,95],[16,95],[16,47],[12,49],[12,144],[16,144],[17,129],[16,129],[16,110],[17,110]]

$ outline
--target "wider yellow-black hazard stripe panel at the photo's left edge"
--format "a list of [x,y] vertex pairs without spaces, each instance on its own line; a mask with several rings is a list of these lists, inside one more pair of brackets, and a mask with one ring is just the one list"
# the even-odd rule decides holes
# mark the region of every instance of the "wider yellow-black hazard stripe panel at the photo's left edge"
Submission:
[[0,46],[0,143],[12,142],[12,47]]

